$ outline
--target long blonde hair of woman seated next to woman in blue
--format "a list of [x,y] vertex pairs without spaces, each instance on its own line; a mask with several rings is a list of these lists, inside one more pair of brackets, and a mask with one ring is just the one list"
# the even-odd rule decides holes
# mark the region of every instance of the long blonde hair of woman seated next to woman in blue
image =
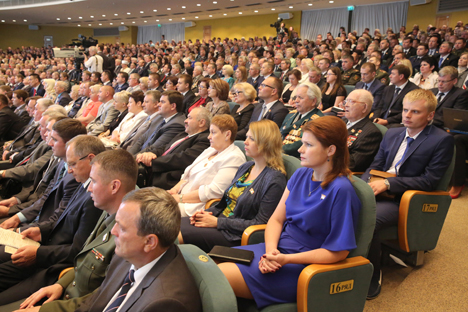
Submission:
[[252,122],[249,131],[267,166],[286,174],[282,156],[283,141],[278,125],[271,120],[263,119]]

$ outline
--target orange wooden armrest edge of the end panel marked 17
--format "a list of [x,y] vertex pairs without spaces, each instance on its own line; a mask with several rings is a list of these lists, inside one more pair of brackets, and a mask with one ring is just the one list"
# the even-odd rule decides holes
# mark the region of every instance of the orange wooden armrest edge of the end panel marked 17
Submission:
[[416,195],[426,195],[426,196],[450,196],[448,192],[444,191],[415,191],[410,190],[406,191],[401,197],[399,213],[398,213],[398,242],[400,248],[406,252],[410,251],[408,244],[408,212],[410,208],[411,199]]

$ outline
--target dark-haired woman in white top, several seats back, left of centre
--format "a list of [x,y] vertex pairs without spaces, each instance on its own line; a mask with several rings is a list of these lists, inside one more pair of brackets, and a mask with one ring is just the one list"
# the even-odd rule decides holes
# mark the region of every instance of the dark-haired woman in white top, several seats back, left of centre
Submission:
[[[120,93],[122,92],[117,94]],[[142,107],[142,103],[145,98],[143,91],[135,91],[130,96],[125,92],[121,96],[126,96],[128,98],[128,113],[125,115],[124,119],[122,119],[118,127],[112,132],[111,136],[101,138],[106,146],[120,144],[120,142],[124,141],[127,135],[131,133],[135,127],[140,126],[145,121],[146,117],[148,117]]]

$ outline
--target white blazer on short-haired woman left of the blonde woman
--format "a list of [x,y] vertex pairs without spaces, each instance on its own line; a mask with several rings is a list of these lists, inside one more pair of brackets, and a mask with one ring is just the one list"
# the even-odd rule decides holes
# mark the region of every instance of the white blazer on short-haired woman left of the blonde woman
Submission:
[[179,194],[198,189],[201,203],[180,203],[182,216],[192,216],[196,211],[203,209],[210,199],[223,197],[237,169],[246,162],[244,153],[234,143],[208,160],[214,154],[216,154],[214,148],[207,148],[185,169],[181,178],[185,183],[181,185]]

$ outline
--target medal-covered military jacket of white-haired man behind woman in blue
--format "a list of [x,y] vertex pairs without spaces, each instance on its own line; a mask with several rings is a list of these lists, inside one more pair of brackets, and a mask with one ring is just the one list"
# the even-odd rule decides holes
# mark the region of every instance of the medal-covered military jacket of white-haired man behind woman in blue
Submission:
[[296,110],[290,112],[281,125],[283,151],[286,154],[294,157],[299,157],[299,152],[297,150],[302,145],[302,126],[310,120],[314,120],[323,116],[322,111],[320,111],[318,108],[314,108],[304,117],[296,122],[293,122],[294,119],[296,119],[297,114],[299,113]]

